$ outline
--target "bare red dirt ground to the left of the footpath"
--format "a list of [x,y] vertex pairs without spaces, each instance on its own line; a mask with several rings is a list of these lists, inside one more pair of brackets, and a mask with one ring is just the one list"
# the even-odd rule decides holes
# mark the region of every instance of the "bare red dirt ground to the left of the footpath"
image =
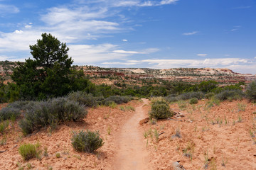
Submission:
[[[142,101],[131,101],[120,106],[135,108],[139,105],[142,105]],[[111,162],[114,162],[114,152],[117,151],[116,137],[118,137],[120,127],[134,113],[134,111],[121,111],[119,106],[117,108],[105,106],[91,108],[87,118],[80,122],[59,125],[53,132],[41,129],[28,137],[22,136],[17,123],[11,124],[6,130],[6,145],[0,145],[0,151],[8,149],[0,153],[0,169],[18,169],[21,166],[26,167],[28,163],[33,166],[33,169],[49,169],[50,167],[53,169],[113,169]],[[70,141],[73,130],[98,130],[105,143],[92,154],[76,152]],[[0,140],[3,137],[1,135]],[[40,143],[41,150],[44,150],[44,147],[48,148],[48,157],[43,156],[41,161],[36,158],[23,161],[21,155],[18,154],[18,147],[23,143],[36,144],[36,142]],[[55,156],[56,153],[60,153],[60,158]]]

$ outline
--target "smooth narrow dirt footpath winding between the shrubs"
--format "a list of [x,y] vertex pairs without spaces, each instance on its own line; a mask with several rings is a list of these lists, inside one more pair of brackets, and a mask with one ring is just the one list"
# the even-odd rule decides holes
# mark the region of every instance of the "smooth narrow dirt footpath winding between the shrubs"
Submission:
[[122,130],[117,138],[116,157],[114,159],[114,169],[120,170],[146,170],[150,169],[148,162],[148,153],[146,152],[146,145],[143,142],[143,130],[139,128],[139,120],[146,117],[146,112],[143,111],[144,104],[149,101],[142,99],[141,106],[136,108],[132,118],[124,123]]

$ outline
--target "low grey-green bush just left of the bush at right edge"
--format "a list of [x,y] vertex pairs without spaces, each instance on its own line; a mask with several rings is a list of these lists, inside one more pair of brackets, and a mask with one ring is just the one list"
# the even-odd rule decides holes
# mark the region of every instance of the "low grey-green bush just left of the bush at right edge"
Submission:
[[243,96],[244,94],[242,93],[241,90],[225,90],[225,91],[221,91],[219,94],[216,94],[215,98],[217,98],[220,101],[225,101],[225,100],[231,100],[232,98],[234,100],[238,100]]

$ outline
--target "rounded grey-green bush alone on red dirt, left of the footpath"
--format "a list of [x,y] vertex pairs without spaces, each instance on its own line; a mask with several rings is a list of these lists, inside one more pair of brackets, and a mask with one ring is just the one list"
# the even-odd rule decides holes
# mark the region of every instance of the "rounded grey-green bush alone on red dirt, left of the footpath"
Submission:
[[103,140],[100,138],[99,132],[91,132],[90,130],[73,131],[71,141],[74,149],[78,152],[93,152],[103,145]]

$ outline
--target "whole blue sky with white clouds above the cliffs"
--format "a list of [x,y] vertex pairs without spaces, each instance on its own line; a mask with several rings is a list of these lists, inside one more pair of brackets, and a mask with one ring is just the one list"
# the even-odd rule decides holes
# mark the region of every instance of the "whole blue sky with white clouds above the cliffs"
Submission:
[[255,0],[0,0],[0,60],[51,33],[74,64],[256,74]]

